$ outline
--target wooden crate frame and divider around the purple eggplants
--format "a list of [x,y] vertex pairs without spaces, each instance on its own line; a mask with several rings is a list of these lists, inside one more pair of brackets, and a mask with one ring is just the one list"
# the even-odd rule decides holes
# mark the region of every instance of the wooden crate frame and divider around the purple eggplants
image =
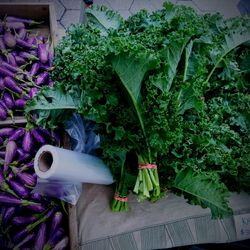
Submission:
[[[0,19],[6,15],[21,18],[29,18],[42,24],[31,27],[32,33],[39,33],[44,37],[50,38],[52,50],[59,41],[60,34],[57,30],[55,8],[52,2],[48,3],[0,3]],[[8,125],[25,125],[26,119],[23,116],[15,116],[0,121],[0,127]],[[69,139],[64,136],[64,147],[70,148]],[[78,228],[76,218],[76,206],[68,205],[68,225],[69,225],[69,247],[70,250],[78,249]]]

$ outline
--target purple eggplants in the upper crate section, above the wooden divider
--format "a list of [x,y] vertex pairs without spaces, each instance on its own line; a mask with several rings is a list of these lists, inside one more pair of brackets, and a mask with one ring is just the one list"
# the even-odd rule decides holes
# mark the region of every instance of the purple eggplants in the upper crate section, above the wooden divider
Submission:
[[53,85],[50,42],[32,32],[34,25],[12,16],[0,20],[0,121],[23,115],[25,103],[41,86]]

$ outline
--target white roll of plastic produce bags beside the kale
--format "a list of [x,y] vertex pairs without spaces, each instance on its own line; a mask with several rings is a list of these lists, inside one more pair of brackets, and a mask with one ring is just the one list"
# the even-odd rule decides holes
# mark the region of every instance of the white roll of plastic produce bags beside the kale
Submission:
[[113,183],[112,174],[101,159],[51,145],[44,145],[38,150],[34,168],[41,179],[105,185]]

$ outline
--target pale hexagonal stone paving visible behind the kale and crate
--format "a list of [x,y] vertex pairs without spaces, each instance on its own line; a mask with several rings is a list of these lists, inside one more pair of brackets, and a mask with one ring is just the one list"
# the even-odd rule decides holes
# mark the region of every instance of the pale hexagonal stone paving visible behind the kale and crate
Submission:
[[[95,4],[106,5],[118,11],[124,18],[140,9],[153,11],[162,7],[166,0],[94,0]],[[174,4],[194,8],[198,13],[220,12],[226,18],[250,13],[250,0],[168,0]],[[0,0],[1,2],[53,2],[56,10],[58,32],[63,35],[70,24],[82,19],[85,4],[83,0]]]

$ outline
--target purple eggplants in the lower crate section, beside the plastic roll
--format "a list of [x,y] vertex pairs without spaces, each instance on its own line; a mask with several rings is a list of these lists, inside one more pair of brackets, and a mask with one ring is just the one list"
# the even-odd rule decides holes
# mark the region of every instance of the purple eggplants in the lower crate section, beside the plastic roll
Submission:
[[44,144],[60,145],[58,131],[28,123],[11,125],[0,128],[0,140],[0,245],[3,249],[66,249],[60,203],[32,192],[37,181],[35,153]]

